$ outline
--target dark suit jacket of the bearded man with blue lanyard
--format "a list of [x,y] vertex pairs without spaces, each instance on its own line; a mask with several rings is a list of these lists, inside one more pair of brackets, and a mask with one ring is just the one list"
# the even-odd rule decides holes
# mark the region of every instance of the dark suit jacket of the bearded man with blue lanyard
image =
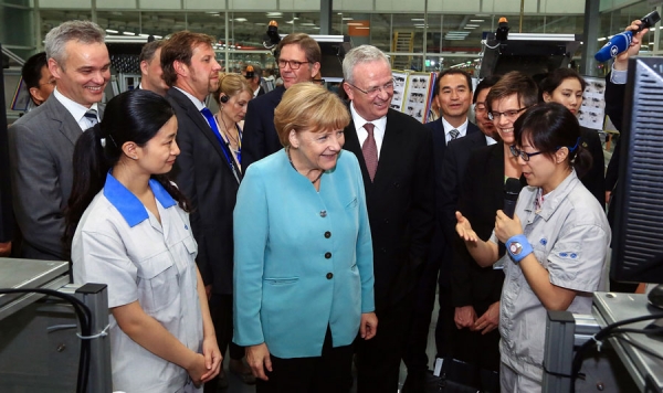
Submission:
[[214,131],[196,105],[173,87],[166,98],[177,116],[180,155],[172,173],[192,205],[196,263],[204,285],[211,284],[214,294],[232,294],[232,211],[239,183]]

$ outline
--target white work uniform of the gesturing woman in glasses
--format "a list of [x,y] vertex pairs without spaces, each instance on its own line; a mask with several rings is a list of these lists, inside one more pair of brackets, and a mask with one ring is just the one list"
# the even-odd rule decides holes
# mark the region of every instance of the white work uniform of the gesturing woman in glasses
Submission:
[[[610,226],[597,199],[572,171],[545,197],[536,210],[538,188],[520,191],[516,214],[536,259],[549,274],[550,284],[577,290],[567,308],[591,314],[592,293],[603,289],[603,269],[610,245]],[[497,243],[495,232],[491,241]],[[546,308],[529,287],[523,269],[506,254],[505,282],[499,304],[501,360],[516,373],[538,383],[543,381],[546,340]],[[532,387],[516,391],[532,392]]]

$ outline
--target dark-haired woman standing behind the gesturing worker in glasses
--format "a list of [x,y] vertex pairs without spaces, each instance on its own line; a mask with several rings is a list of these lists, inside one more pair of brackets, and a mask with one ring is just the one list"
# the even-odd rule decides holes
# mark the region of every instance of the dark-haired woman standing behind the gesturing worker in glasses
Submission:
[[[557,103],[569,109],[573,116],[580,114],[582,105],[582,93],[585,92],[586,82],[572,68],[557,68],[550,72],[539,83],[541,91],[541,100],[545,103]],[[596,105],[599,102],[594,100]],[[590,153],[592,159],[591,167],[582,177],[582,184],[587,187],[599,203],[606,203],[606,160],[603,159],[603,147],[599,132],[587,127],[580,127],[580,144]]]

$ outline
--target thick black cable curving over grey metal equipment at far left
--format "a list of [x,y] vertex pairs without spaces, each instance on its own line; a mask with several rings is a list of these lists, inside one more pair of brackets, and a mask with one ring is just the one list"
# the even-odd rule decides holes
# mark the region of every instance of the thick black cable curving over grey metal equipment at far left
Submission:
[[[92,311],[83,301],[78,298],[59,293],[53,289],[42,288],[21,288],[21,289],[0,289],[0,295],[6,294],[42,294],[46,296],[53,296],[69,301],[76,312],[76,318],[81,323],[81,333],[85,337],[92,336]],[[81,340],[81,354],[78,357],[78,376],[76,380],[76,392],[87,392],[87,378],[90,373],[90,340]]]

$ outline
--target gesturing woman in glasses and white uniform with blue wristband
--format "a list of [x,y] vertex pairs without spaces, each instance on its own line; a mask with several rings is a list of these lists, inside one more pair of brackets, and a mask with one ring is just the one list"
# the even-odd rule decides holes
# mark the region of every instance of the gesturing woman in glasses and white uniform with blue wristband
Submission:
[[539,392],[547,310],[589,314],[601,289],[610,229],[603,208],[580,183],[576,169],[590,156],[579,144],[576,117],[550,103],[529,108],[514,125],[512,149],[527,180],[514,219],[497,211],[487,242],[456,213],[456,231],[482,266],[495,263],[505,243],[499,306],[503,392]]

